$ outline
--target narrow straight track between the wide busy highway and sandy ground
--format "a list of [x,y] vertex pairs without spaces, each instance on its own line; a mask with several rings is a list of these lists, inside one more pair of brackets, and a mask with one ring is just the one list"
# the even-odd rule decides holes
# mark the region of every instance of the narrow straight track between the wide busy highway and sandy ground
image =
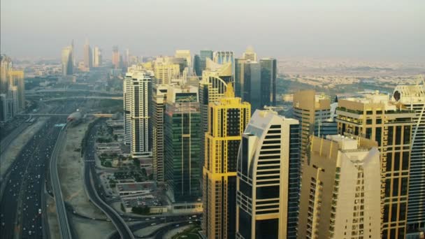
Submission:
[[64,143],[64,136],[66,136],[66,126],[61,129],[55,148],[52,152],[52,159],[50,160],[50,182],[52,184],[53,195],[55,196],[57,220],[59,223],[59,231],[62,239],[72,238],[71,228],[69,226],[68,216],[66,215],[66,208],[64,198],[62,196],[61,183],[57,172],[57,159],[61,152]]

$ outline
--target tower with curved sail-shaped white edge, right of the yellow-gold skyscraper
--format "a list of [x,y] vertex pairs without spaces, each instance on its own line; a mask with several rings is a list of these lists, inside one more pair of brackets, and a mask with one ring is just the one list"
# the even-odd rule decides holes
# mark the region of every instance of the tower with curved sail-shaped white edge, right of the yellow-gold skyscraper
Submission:
[[296,238],[298,120],[256,110],[238,152],[236,238]]

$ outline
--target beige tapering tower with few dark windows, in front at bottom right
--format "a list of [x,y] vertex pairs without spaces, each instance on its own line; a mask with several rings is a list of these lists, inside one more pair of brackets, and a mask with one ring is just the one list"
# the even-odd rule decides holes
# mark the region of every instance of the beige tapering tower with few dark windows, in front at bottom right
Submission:
[[298,238],[380,238],[380,152],[366,138],[312,136]]

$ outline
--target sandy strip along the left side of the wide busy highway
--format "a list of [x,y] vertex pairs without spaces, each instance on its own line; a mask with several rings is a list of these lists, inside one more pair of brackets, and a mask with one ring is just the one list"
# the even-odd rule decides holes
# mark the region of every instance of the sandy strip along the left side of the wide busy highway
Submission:
[[3,154],[1,154],[1,167],[0,167],[0,175],[3,177],[3,173],[5,173],[10,164],[15,161],[17,154],[20,153],[22,147],[28,143],[32,136],[38,131],[38,129],[43,126],[46,118],[40,117],[38,121],[34,124],[28,126],[22,133],[20,133],[12,143],[10,143],[9,147],[6,149]]

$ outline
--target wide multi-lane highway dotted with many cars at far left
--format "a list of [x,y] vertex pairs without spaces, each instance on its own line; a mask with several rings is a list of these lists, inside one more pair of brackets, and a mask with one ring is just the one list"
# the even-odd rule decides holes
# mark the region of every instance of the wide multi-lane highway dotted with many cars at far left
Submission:
[[[75,110],[75,103],[66,103],[54,113]],[[45,219],[45,178],[49,159],[66,117],[46,120],[23,147],[6,172],[0,202],[0,238],[48,238]]]

